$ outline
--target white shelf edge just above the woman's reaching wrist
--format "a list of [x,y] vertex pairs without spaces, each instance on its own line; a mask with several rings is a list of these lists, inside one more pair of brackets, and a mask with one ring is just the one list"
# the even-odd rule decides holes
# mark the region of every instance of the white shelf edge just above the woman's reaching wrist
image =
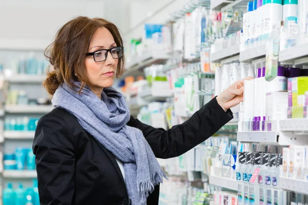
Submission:
[[[210,61],[213,63],[221,63],[226,64],[230,62],[230,60],[234,60],[234,56],[239,55],[240,53],[240,45],[234,45],[226,49],[222,49],[220,51],[217,51],[215,53],[210,54]],[[233,57],[232,59],[230,59]],[[237,58],[237,57],[235,57]]]

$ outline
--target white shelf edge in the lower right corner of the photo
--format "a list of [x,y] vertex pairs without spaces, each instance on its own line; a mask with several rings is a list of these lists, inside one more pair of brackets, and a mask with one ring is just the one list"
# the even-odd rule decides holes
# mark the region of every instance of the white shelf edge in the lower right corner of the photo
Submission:
[[301,194],[308,194],[308,181],[280,177],[280,188]]

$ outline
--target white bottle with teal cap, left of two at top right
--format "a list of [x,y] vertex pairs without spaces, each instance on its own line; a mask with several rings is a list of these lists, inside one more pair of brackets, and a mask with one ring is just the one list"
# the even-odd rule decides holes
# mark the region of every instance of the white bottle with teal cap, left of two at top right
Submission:
[[264,34],[273,30],[273,25],[282,20],[282,0],[266,0],[264,5]]

